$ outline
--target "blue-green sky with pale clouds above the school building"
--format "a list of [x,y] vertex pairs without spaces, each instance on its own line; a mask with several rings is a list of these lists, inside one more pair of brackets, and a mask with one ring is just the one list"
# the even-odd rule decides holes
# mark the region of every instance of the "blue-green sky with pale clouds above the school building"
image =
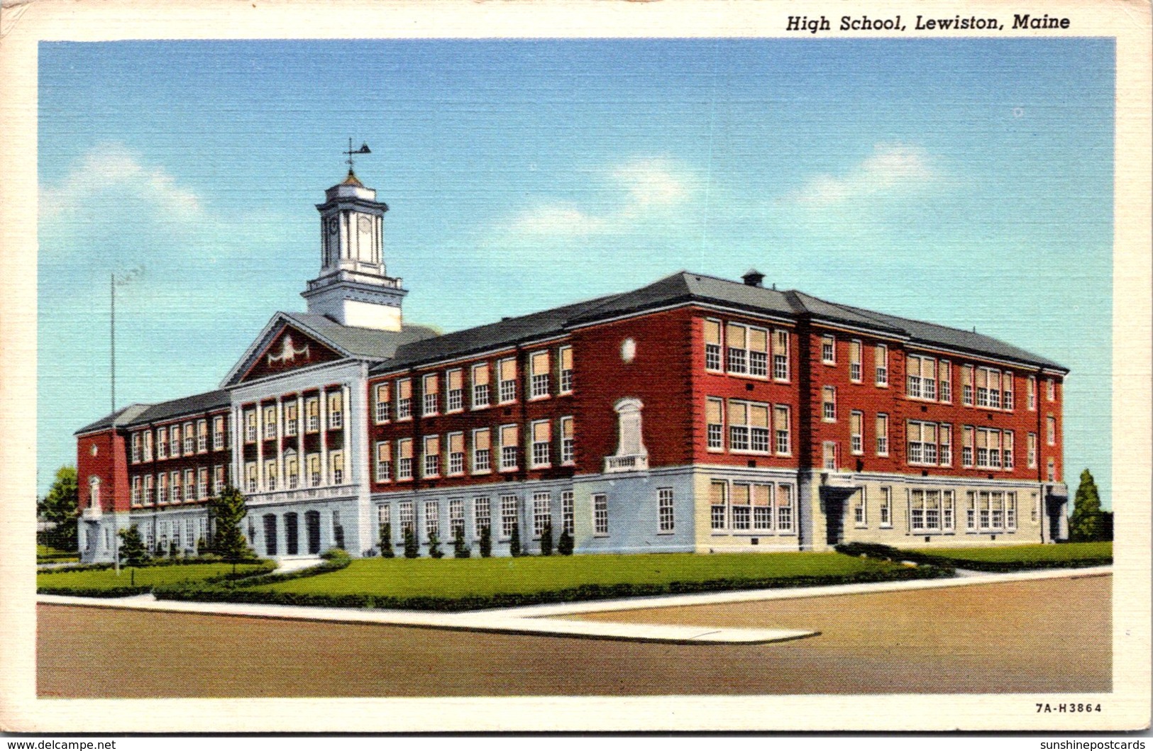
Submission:
[[116,405],[219,386],[319,270],[368,143],[405,319],[679,270],[977,331],[1071,370],[1110,503],[1111,39],[43,43],[37,477]]

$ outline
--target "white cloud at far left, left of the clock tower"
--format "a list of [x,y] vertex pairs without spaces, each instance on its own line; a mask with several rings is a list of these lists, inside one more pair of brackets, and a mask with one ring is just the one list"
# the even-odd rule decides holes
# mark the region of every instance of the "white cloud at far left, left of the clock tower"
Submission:
[[174,219],[193,219],[201,213],[196,194],[179,187],[164,168],[145,167],[120,144],[95,146],[59,184],[43,188],[40,213],[54,217],[110,194],[152,203]]

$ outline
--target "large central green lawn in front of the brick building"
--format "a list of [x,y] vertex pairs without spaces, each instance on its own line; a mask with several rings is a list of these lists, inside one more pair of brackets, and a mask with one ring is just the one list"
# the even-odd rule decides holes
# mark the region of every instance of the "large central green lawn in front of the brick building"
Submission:
[[360,559],[339,571],[250,589],[322,596],[464,598],[553,592],[580,586],[853,576],[894,568],[900,567],[837,553]]

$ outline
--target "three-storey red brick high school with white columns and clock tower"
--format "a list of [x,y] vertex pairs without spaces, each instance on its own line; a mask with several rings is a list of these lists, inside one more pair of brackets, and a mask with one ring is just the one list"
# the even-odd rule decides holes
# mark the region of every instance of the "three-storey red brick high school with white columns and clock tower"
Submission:
[[[81,552],[114,530],[193,552],[248,501],[262,555],[371,554],[391,524],[507,554],[1042,543],[1067,533],[1068,370],[973,332],[680,272],[451,334],[404,323],[387,205],[349,172],[307,312],[218,390],[77,432]],[[474,553],[475,554],[475,553]]]

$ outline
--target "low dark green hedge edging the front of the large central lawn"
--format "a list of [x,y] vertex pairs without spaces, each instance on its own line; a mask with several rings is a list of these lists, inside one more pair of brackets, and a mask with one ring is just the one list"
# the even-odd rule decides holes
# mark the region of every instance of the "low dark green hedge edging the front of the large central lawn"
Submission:
[[[334,563],[334,562],[333,562]],[[347,566],[344,562],[339,568]],[[326,564],[317,567],[324,569]],[[253,586],[265,581],[284,581],[297,575],[315,576],[324,571],[309,569],[282,577],[276,575],[246,579],[228,584],[202,585],[189,582],[167,586],[155,591],[157,599],[194,600],[208,602],[256,602],[262,605],[301,605],[308,607],[341,608],[389,608],[407,610],[477,610],[488,608],[520,607],[542,605],[547,602],[580,602],[586,600],[608,600],[632,597],[656,597],[662,594],[691,594],[701,592],[726,592],[740,590],[785,589],[801,586],[830,586],[835,584],[861,584],[871,582],[891,582],[902,579],[948,578],[954,576],[950,568],[921,566],[917,568],[894,568],[879,571],[857,571],[844,575],[815,575],[792,577],[768,577],[758,579],[711,579],[704,582],[668,582],[660,584],[587,584],[582,586],[541,591],[541,592],[506,592],[493,594],[474,594],[467,597],[387,597],[371,594],[304,594],[296,592],[274,592],[254,590]],[[334,569],[329,569],[334,570]]]

